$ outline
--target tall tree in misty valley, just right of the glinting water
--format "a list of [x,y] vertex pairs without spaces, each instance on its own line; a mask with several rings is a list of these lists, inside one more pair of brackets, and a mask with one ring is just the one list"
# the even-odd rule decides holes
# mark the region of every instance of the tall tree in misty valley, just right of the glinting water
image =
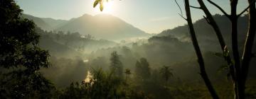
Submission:
[[110,57],[110,62],[111,62],[111,71],[119,77],[123,77],[123,65],[122,62],[119,59],[119,55],[117,54],[116,51],[111,53]]

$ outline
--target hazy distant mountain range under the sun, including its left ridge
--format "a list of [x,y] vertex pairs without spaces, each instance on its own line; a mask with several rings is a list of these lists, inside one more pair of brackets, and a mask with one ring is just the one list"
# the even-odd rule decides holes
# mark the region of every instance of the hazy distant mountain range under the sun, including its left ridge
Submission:
[[98,39],[104,40],[131,40],[137,37],[149,37],[139,28],[122,21],[108,14],[99,14],[90,16],[85,14],[78,18],[72,18],[69,21],[55,20],[53,18],[38,18],[28,14],[23,14],[23,18],[33,20],[36,25],[43,30],[56,30],[82,35],[90,34]]

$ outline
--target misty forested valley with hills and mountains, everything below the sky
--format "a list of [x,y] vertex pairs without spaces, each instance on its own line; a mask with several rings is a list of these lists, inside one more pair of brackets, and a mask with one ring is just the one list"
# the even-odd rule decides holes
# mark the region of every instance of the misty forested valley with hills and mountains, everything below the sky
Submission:
[[[104,11],[102,1],[92,6]],[[109,13],[57,20],[23,13],[13,0],[0,6],[0,98],[256,98],[256,40],[250,46],[246,38],[255,37],[247,34],[256,28],[256,20],[248,20],[252,9],[237,19],[238,71],[246,74],[240,76],[233,21],[222,13],[205,12],[190,24],[188,7],[181,15],[188,23],[152,34]],[[244,73],[247,46],[250,68]]]

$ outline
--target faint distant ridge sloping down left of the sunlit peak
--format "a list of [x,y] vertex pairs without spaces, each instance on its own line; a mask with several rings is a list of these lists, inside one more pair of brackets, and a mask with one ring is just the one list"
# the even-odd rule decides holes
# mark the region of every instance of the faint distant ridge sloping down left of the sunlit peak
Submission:
[[35,17],[35,16],[31,16],[31,15],[28,15],[28,14],[22,14],[23,18],[28,18],[29,20],[32,20],[34,23],[36,23],[36,25],[43,29],[43,30],[53,30],[53,28],[50,26],[49,23],[46,23],[46,21],[43,21],[42,18],[38,18],[38,17]]

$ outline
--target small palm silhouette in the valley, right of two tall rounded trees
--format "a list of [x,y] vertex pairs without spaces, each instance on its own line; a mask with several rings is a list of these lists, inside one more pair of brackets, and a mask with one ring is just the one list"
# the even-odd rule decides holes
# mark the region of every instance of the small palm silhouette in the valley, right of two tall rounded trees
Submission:
[[164,78],[166,83],[168,82],[171,76],[174,76],[174,74],[171,72],[172,70],[173,69],[171,69],[170,66],[163,66],[160,69],[161,76]]

